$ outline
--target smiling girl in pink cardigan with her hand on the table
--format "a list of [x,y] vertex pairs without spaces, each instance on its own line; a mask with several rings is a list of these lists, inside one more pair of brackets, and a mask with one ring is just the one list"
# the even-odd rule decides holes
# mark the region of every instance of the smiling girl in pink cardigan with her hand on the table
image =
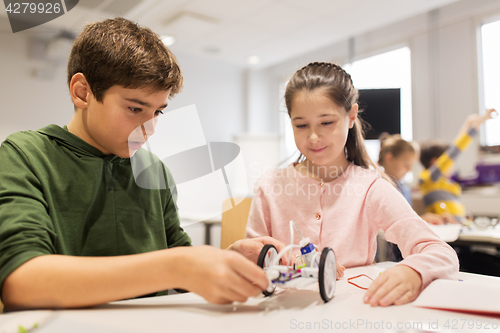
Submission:
[[293,75],[285,103],[301,156],[259,179],[247,237],[289,244],[293,220],[314,244],[333,248],[337,262],[352,267],[373,262],[383,229],[404,260],[376,278],[363,300],[404,304],[432,280],[457,280],[458,258],[368,157],[357,100],[350,75],[335,64],[311,63]]

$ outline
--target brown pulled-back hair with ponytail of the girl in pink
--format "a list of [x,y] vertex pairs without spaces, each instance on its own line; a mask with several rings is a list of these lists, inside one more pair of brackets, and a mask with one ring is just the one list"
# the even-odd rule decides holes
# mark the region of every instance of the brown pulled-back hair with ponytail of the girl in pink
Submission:
[[[285,104],[288,115],[290,116],[292,112],[293,97],[298,92],[315,90],[322,90],[335,104],[344,108],[346,113],[358,102],[358,90],[354,88],[351,76],[342,67],[332,63],[312,62],[295,72],[286,86]],[[365,169],[371,166],[380,171],[366,152],[363,123],[359,117],[356,118],[354,126],[349,129],[345,154],[349,162]],[[297,162],[300,162],[302,158],[301,154]],[[380,172],[385,178],[384,173]]]

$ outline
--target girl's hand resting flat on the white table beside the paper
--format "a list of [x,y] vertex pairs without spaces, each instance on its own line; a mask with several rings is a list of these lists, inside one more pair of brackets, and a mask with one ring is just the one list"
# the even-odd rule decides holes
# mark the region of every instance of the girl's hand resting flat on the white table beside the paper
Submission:
[[397,265],[373,281],[363,298],[371,306],[401,305],[413,301],[422,289],[422,277],[413,268]]

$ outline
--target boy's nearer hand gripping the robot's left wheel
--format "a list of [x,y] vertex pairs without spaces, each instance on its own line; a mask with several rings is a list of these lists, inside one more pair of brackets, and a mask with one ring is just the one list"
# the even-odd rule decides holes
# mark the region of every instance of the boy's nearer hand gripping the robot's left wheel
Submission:
[[245,302],[265,290],[269,280],[264,271],[235,251],[212,246],[186,249],[181,271],[182,289],[192,291],[208,302]]

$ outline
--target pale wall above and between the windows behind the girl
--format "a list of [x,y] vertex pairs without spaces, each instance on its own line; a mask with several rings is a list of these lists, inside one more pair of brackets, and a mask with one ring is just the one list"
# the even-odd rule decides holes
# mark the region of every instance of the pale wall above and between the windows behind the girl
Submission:
[[[345,64],[406,45],[412,57],[414,139],[451,141],[466,116],[479,110],[477,29],[484,19],[499,14],[498,0],[462,0],[356,36],[354,55],[349,53],[346,40],[267,68],[268,84],[277,86],[311,61]],[[273,99],[268,103],[273,117],[268,127],[279,132],[278,107]],[[459,158],[461,173],[474,170],[477,144],[478,140]]]

